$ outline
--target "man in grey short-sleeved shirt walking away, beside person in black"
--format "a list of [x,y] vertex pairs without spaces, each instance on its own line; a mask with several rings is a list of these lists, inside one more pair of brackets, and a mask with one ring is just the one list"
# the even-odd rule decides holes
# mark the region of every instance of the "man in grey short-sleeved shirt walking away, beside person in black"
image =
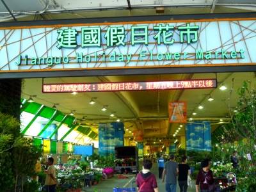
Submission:
[[170,155],[170,161],[164,163],[164,171],[162,181],[165,179],[166,192],[176,192],[177,188],[177,174],[179,173],[178,164],[174,161],[174,155]]

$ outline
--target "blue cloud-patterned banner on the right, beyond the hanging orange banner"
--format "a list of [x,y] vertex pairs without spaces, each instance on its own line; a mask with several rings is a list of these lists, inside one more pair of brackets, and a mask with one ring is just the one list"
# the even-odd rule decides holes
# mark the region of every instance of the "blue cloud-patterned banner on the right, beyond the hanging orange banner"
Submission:
[[211,151],[211,123],[196,121],[186,124],[186,149]]

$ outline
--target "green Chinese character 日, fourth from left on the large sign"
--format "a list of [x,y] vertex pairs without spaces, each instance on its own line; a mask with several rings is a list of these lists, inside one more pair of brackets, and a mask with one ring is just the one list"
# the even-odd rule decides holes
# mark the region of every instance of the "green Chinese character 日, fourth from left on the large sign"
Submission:
[[132,45],[134,44],[148,45],[148,26],[132,26],[131,39],[132,39]]

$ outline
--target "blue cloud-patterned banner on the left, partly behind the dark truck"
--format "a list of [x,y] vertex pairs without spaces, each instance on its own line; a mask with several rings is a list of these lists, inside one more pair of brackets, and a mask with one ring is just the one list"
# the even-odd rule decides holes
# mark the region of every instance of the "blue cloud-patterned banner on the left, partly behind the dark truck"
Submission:
[[114,154],[115,146],[124,146],[124,124],[99,124],[100,156]]

